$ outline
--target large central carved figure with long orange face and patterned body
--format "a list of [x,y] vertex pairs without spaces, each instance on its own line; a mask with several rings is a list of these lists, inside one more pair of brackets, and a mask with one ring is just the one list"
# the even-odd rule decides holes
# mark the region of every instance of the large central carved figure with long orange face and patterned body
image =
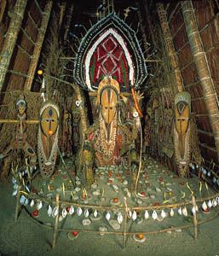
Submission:
[[105,77],[98,87],[99,118],[86,131],[83,166],[87,183],[93,181],[94,166],[120,165],[136,162],[135,137],[118,119],[119,84]]

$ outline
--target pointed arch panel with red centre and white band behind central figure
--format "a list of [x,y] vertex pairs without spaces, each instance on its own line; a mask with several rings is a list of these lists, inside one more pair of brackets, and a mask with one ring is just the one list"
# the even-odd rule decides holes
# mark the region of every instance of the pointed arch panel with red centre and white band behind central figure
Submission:
[[135,31],[114,13],[91,26],[78,47],[73,77],[85,90],[97,90],[104,76],[121,91],[145,86],[147,67]]

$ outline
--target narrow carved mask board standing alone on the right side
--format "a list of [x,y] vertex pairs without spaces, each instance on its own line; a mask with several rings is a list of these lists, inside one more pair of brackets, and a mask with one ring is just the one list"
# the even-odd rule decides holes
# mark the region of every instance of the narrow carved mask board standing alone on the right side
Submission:
[[189,170],[190,113],[190,94],[187,91],[177,93],[175,96],[174,146],[178,172],[181,177],[187,177]]

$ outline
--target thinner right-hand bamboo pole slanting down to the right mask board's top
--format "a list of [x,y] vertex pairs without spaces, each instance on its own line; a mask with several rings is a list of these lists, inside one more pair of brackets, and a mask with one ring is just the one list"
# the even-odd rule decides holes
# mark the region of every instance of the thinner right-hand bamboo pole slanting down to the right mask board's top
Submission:
[[[177,92],[183,91],[183,81],[182,81],[182,75],[178,64],[178,57],[176,55],[176,51],[174,48],[174,44],[172,41],[171,33],[170,33],[170,27],[166,18],[166,12],[164,10],[164,4],[158,3],[158,17],[160,20],[160,25],[162,27],[162,31],[164,34],[164,42],[166,45],[166,50],[169,55],[170,59],[170,66],[174,73],[174,77],[176,80],[176,88]],[[175,89],[175,87],[174,87]]]

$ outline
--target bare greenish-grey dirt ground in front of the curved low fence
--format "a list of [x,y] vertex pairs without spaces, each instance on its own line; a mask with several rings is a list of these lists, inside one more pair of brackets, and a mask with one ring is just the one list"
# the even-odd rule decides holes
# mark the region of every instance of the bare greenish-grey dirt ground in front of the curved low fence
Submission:
[[[55,248],[51,248],[53,230],[42,228],[21,211],[17,222],[14,221],[16,200],[12,194],[11,177],[0,183],[0,255],[1,256],[42,256],[42,255],[219,255],[219,218],[199,226],[198,240],[193,239],[193,228],[147,236],[147,241],[137,243],[131,236],[123,248],[123,236],[80,232],[71,241],[66,232],[60,232]],[[218,207],[217,211],[218,211]]]

